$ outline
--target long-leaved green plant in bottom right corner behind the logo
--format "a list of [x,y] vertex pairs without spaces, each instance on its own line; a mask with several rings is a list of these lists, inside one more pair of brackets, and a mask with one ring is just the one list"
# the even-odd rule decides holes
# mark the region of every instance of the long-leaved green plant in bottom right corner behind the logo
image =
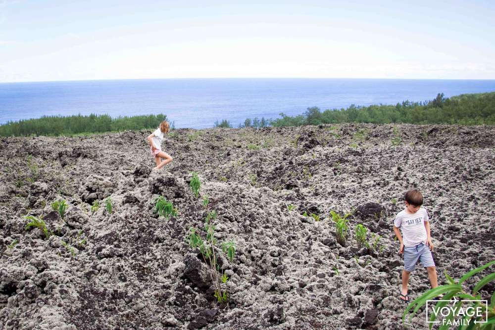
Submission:
[[[419,298],[416,298],[414,301],[412,301],[407,306],[402,315],[402,323],[405,324],[405,317],[408,314],[410,314],[410,322],[416,312],[427,303],[427,300],[432,300],[433,298],[444,294],[444,296],[441,298],[442,301],[438,301],[434,307],[431,307],[432,311],[430,311],[431,314],[429,321],[439,322],[439,330],[451,329],[451,327],[455,324],[455,318],[461,316],[462,319],[457,320],[460,321],[457,328],[458,330],[493,330],[495,325],[495,292],[492,294],[490,305],[488,305],[484,303],[483,300],[481,300],[482,297],[479,291],[488,283],[495,281],[495,273],[491,273],[490,275],[482,278],[478,283],[476,283],[476,285],[473,286],[471,293],[468,293],[469,291],[464,290],[464,288],[462,287],[462,283],[494,264],[495,260],[479,268],[473,269],[466,273],[459,281],[455,281],[454,279],[452,279],[445,271],[444,274],[448,284],[440,285],[434,289],[430,289],[427,292],[423,293]],[[428,304],[431,304],[431,302],[428,302]],[[464,306],[463,308],[463,304],[467,306]],[[471,310],[471,312],[467,312],[469,309]],[[442,320],[442,312],[444,310],[448,310],[448,314]],[[476,310],[481,310],[482,313],[480,314],[482,316],[479,317],[478,313],[475,312]],[[432,326],[433,323],[430,323],[430,329],[432,329]]]

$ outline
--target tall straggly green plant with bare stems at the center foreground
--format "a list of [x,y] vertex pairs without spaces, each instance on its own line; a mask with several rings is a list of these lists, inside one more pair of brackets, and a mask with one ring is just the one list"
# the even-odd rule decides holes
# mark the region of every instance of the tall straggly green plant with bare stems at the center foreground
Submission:
[[218,247],[220,246],[221,251],[232,262],[235,258],[236,246],[233,240],[222,242],[218,245],[215,238],[215,225],[213,224],[215,219],[216,212],[209,212],[204,223],[204,233],[201,233],[197,228],[191,227],[188,236],[186,236],[186,242],[192,249],[199,249],[204,263],[209,265],[209,273],[214,285],[214,296],[217,298],[218,303],[226,303],[229,299],[229,293],[222,284],[227,283],[228,277],[224,273],[224,269],[220,269],[220,265],[218,265]]

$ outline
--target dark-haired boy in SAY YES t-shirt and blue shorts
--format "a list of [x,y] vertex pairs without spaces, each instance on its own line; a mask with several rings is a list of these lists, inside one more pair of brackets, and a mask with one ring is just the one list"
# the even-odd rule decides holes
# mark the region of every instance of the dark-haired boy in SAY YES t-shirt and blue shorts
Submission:
[[[418,189],[410,189],[405,193],[404,200],[406,208],[397,214],[394,220],[394,232],[400,242],[399,253],[404,254],[400,299],[409,303],[407,284],[409,275],[416,268],[418,260],[426,267],[432,288],[437,287],[438,282],[437,270],[431,253],[433,243],[428,213],[420,207],[423,205],[423,195]],[[402,235],[400,235],[399,228]]]

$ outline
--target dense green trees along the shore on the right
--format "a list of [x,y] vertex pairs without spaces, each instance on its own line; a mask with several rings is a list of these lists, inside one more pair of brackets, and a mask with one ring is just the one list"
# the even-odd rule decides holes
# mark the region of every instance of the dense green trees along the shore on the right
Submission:
[[[438,94],[435,99],[424,102],[408,100],[396,105],[356,106],[347,109],[327,109],[321,111],[314,106],[307,108],[304,114],[268,120],[271,126],[301,126],[338,123],[409,123],[409,124],[460,124],[494,125],[495,92],[481,94],[461,94],[445,98]],[[252,123],[246,119],[245,126]],[[242,125],[241,125],[242,126]],[[252,126],[256,127],[256,126]],[[260,126],[263,127],[263,126]]]

